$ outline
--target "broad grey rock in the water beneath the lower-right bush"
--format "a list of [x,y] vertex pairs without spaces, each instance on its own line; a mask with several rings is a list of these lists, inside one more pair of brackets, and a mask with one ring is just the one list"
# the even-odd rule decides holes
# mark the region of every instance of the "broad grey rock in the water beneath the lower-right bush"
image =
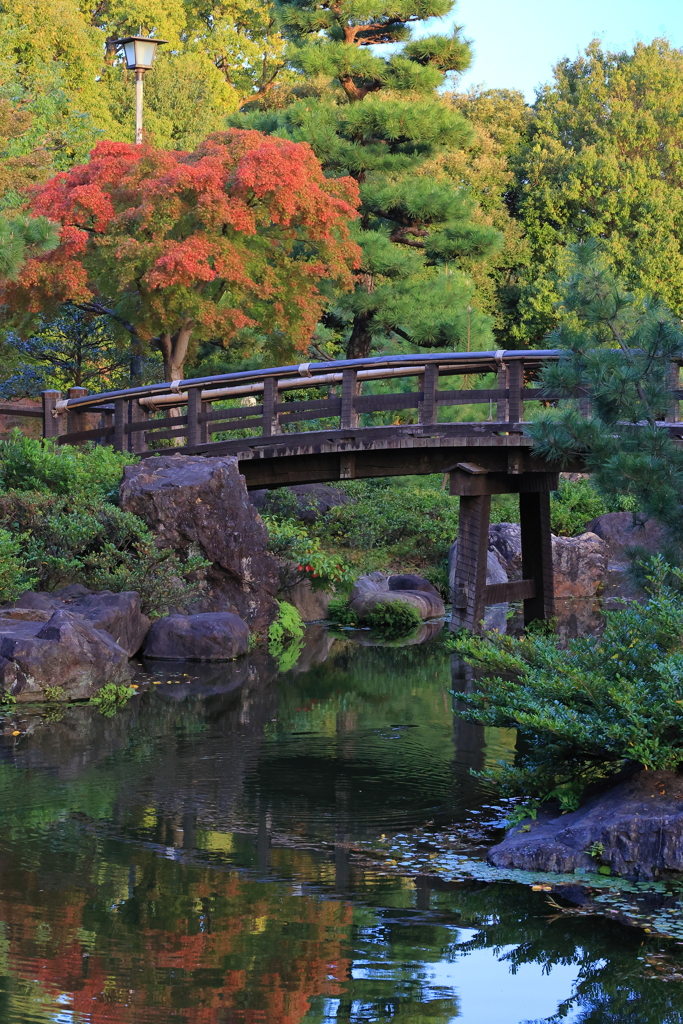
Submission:
[[571,814],[515,825],[490,848],[488,861],[526,871],[606,865],[629,879],[683,871],[683,776],[641,771]]

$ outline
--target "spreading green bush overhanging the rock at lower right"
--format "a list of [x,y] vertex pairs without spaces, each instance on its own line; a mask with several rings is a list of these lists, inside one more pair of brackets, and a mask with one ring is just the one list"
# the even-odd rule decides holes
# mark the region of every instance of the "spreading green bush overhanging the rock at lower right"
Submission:
[[493,773],[504,792],[578,806],[586,786],[626,762],[647,769],[683,765],[683,603],[661,584],[683,570],[653,559],[650,596],[606,612],[600,637],[569,641],[532,631],[515,639],[460,635],[452,649],[487,673],[459,693],[468,721],[516,728],[514,765]]

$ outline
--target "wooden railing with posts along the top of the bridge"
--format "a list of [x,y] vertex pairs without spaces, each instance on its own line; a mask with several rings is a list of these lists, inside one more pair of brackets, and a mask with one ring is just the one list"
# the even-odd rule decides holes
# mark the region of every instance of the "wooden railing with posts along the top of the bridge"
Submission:
[[[528,401],[562,397],[535,381],[557,349],[437,352],[305,362],[88,394],[43,392],[43,433],[61,444],[94,441],[145,453],[173,445],[202,451],[217,433],[236,450],[250,440],[357,431],[387,416],[423,428],[458,423],[460,407],[487,406],[490,432],[519,432]],[[676,368],[678,379],[678,368]],[[481,382],[495,387],[477,386]],[[464,378],[459,386],[453,378]],[[395,390],[387,387],[395,383]],[[400,389],[399,389],[400,387]],[[677,403],[676,403],[677,404]],[[461,410],[462,412],[462,410]],[[440,415],[439,415],[440,414]],[[676,411],[671,419],[678,419]],[[378,423],[379,421],[379,423]],[[237,436],[236,436],[237,435]]]

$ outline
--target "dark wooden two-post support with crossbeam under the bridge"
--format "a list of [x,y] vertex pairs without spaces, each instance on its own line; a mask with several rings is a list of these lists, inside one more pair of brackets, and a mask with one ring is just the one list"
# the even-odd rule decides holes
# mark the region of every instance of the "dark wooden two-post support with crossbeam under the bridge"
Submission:
[[[487,604],[523,601],[524,625],[554,613],[550,493],[558,474],[524,472],[513,460],[512,472],[488,472],[474,463],[451,470],[451,494],[460,497],[458,558],[453,587],[451,629],[480,633]],[[519,495],[522,580],[486,584],[490,496]]]

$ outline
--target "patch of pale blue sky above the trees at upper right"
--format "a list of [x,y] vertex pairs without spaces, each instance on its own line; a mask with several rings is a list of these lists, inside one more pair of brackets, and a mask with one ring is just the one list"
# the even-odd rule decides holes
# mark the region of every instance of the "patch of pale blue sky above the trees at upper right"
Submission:
[[454,24],[463,26],[474,49],[459,90],[519,89],[530,102],[553,65],[575,57],[596,37],[616,50],[657,36],[683,47],[683,0],[459,0],[455,16],[432,23],[430,31]]

